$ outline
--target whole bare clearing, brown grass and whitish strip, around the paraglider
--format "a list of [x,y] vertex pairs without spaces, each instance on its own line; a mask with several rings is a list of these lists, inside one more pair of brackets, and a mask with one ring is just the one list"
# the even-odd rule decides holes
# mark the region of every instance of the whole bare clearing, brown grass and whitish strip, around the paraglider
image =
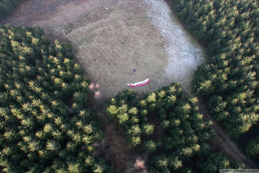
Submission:
[[[166,15],[158,16],[159,11]],[[36,25],[51,40],[71,43],[77,62],[100,85],[102,100],[142,78],[151,80],[134,88],[138,93],[171,82],[188,87],[197,65],[204,62],[202,48],[163,1],[26,1],[7,22]]]

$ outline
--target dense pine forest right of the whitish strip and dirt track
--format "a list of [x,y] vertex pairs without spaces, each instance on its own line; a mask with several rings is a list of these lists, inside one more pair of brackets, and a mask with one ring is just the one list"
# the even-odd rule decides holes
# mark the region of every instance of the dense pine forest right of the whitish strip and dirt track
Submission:
[[[208,102],[216,121],[233,137],[258,121],[259,2],[256,0],[172,0],[178,18],[208,50],[193,87]],[[259,154],[259,138],[247,145]],[[257,144],[257,145],[256,145]]]

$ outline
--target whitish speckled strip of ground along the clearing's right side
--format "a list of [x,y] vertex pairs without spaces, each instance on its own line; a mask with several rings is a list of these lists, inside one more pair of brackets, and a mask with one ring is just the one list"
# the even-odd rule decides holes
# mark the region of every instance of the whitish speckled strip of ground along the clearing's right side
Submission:
[[205,62],[202,47],[181,27],[163,0],[145,0],[143,6],[148,20],[166,42],[168,65],[165,76],[189,89],[195,69]]

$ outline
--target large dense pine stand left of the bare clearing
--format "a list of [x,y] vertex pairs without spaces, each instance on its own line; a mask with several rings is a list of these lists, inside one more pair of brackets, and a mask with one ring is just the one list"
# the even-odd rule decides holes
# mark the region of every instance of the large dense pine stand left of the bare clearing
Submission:
[[71,45],[38,27],[2,26],[0,40],[1,171],[109,172],[93,157],[103,133]]

